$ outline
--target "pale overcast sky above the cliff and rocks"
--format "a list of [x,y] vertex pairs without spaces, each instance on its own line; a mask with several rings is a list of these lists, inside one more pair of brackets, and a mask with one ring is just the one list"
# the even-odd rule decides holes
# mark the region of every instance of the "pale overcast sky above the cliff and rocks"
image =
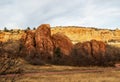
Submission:
[[120,28],[120,0],[0,0],[0,29],[42,23]]

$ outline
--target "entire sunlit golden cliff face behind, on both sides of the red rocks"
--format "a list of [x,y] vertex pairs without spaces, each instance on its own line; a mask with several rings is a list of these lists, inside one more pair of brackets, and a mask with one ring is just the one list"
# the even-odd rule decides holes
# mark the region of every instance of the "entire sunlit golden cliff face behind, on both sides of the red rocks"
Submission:
[[[35,31],[34,31],[35,32]],[[73,43],[90,41],[92,39],[99,41],[119,41],[120,30],[102,30],[94,28],[82,27],[55,27],[51,29],[51,34],[62,33],[70,38]],[[0,41],[19,40],[26,33],[21,31],[19,33],[2,32],[0,33]]]

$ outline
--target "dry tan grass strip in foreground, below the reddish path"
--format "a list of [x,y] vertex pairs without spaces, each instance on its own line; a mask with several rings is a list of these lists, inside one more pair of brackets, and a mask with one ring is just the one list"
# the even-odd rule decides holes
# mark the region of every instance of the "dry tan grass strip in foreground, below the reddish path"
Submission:
[[119,82],[120,72],[23,76],[18,82]]

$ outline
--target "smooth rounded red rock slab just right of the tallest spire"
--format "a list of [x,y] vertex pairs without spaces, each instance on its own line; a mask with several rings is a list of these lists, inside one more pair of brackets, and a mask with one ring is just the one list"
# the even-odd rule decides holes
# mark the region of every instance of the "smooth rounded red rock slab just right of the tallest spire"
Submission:
[[67,56],[71,54],[73,44],[67,36],[61,33],[56,33],[52,35],[52,40],[55,48],[60,48],[61,53]]

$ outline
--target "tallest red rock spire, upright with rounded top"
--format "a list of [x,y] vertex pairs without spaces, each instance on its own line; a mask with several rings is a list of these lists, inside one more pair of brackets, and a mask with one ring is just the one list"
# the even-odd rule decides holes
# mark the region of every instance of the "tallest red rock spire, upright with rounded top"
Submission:
[[54,45],[51,40],[51,30],[49,24],[40,25],[35,32],[35,42],[37,54],[43,60],[52,59]]

